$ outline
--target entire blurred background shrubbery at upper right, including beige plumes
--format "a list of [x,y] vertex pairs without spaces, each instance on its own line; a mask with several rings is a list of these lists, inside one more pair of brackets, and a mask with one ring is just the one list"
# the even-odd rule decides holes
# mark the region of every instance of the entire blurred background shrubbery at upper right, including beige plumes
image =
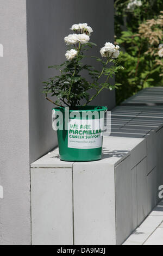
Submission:
[[163,86],[162,0],[115,0],[115,41],[121,45],[120,64],[116,75],[116,101],[120,104],[147,87]]

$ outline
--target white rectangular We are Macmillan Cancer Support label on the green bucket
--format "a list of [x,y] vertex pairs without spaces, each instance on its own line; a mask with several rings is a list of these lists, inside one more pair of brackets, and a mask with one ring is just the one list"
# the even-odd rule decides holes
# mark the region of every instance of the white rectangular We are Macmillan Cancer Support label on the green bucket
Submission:
[[102,147],[103,118],[94,120],[70,119],[68,148],[96,149]]

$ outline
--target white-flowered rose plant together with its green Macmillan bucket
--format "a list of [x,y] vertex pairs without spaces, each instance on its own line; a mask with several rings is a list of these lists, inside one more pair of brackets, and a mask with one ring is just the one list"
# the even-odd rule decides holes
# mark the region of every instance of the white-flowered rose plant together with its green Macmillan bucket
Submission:
[[[99,160],[102,153],[104,113],[107,108],[90,106],[90,102],[103,89],[113,90],[120,86],[109,82],[110,77],[123,69],[117,65],[120,47],[106,42],[100,50],[105,59],[93,57],[102,64],[102,70],[98,71],[93,66],[82,64],[83,58],[86,57],[84,52],[89,50],[89,47],[96,46],[90,42],[92,28],[86,23],[80,23],[73,25],[71,30],[73,34],[65,37],[65,42],[70,47],[66,52],[67,60],[61,65],[49,67],[59,70],[60,75],[43,82],[43,93],[46,99],[55,105],[53,117],[57,128],[60,159]],[[83,70],[88,72],[91,82],[81,75]],[[102,77],[105,79],[100,82]],[[89,93],[91,89],[94,92],[92,96]],[[56,100],[49,99],[48,94],[55,96]],[[81,100],[85,100],[82,106]]]

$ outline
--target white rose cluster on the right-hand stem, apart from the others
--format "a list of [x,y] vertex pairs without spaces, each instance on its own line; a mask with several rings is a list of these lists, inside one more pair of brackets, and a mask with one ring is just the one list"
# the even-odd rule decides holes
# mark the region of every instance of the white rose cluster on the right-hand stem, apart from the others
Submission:
[[111,42],[106,42],[105,46],[101,48],[100,53],[102,57],[118,58],[120,55],[120,46],[114,45]]

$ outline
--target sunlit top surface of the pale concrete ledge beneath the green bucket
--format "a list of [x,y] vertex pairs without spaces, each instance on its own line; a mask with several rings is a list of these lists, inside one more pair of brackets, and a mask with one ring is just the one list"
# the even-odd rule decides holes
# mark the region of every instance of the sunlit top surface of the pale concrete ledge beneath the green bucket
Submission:
[[[89,162],[90,164],[114,164],[123,161],[135,147],[141,145],[141,138],[117,138],[104,136],[102,160]],[[80,163],[77,163],[80,164]],[[58,148],[32,163],[32,168],[72,168],[73,162],[60,161]]]

